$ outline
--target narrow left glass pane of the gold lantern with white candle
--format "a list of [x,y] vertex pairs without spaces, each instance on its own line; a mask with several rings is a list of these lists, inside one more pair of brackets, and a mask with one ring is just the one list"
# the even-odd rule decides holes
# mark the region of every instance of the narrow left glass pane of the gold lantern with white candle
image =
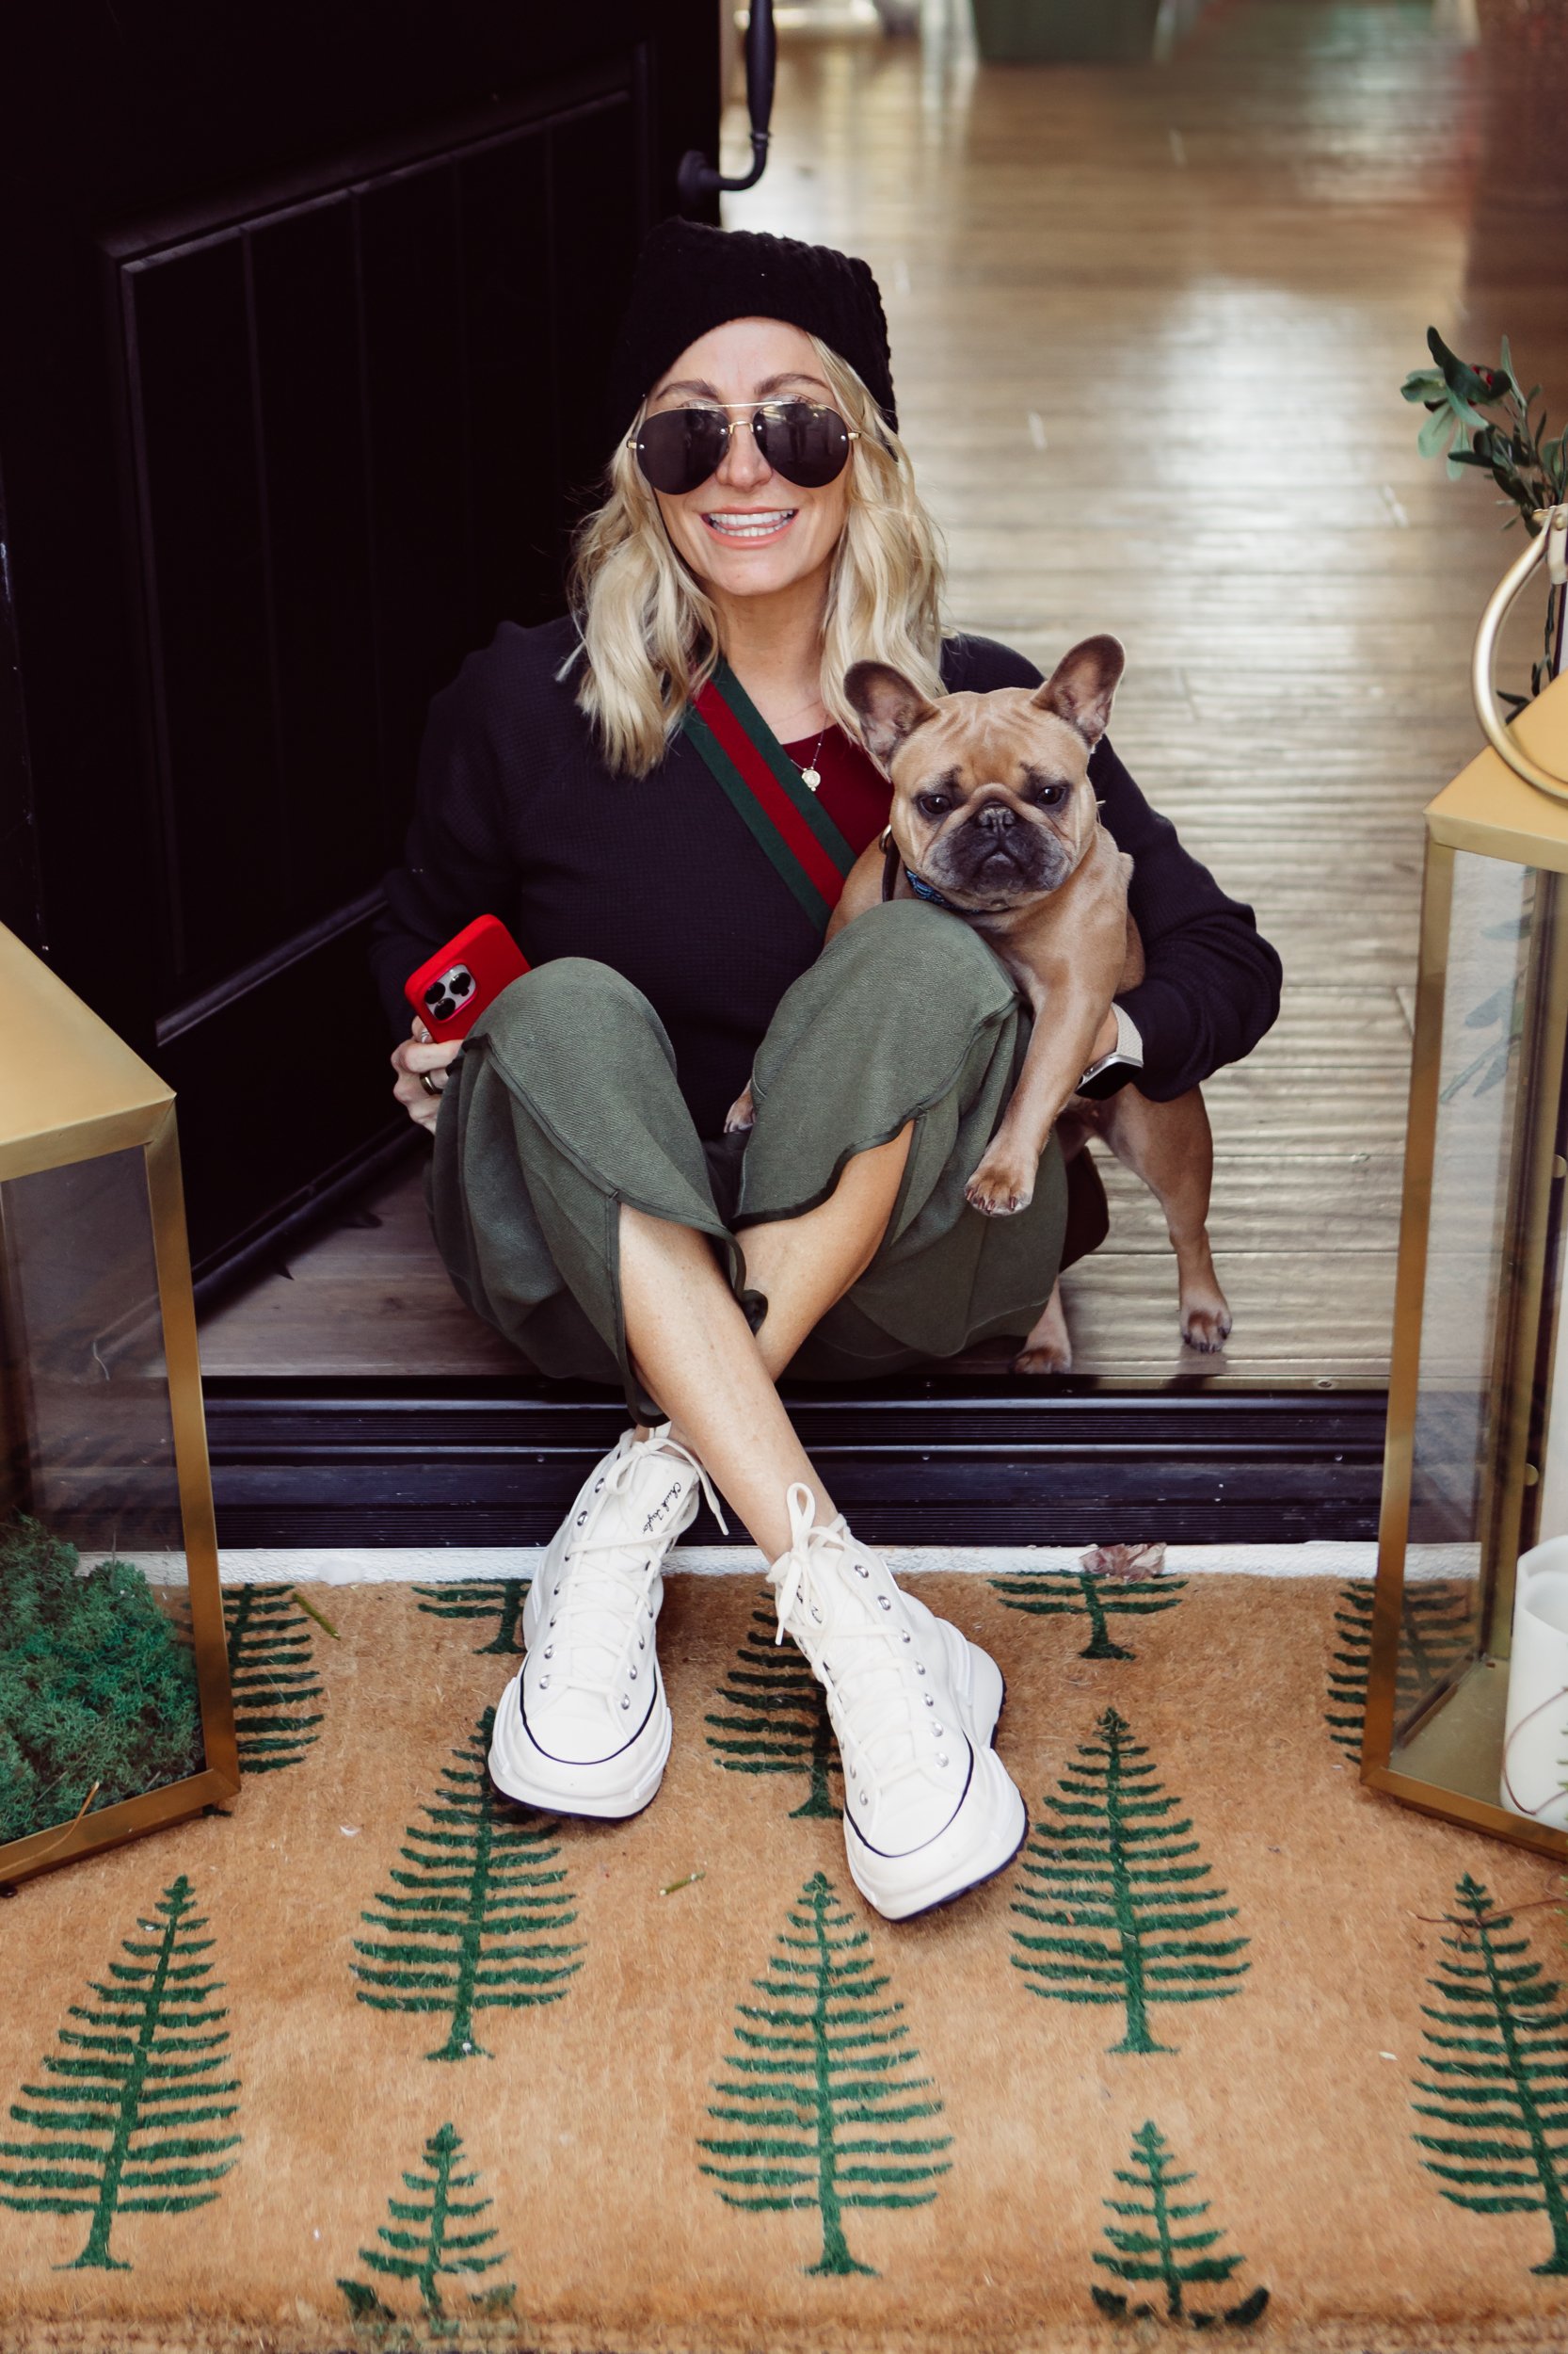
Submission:
[[[1511,1229],[1521,1182],[1521,1055],[1535,986],[1540,876],[1455,852],[1448,977],[1439,1055],[1431,1217],[1422,1297],[1420,1384],[1410,1471],[1410,1540],[1401,1596],[1396,1751],[1483,1648],[1488,1467],[1497,1459]],[[1495,1695],[1476,1688],[1490,1711]],[[1446,1733],[1471,1747],[1471,1709]],[[1424,1747],[1436,1735],[1429,1723]],[[1431,1773],[1427,1761],[1424,1773]],[[1455,1768],[1460,1780],[1464,1770]],[[1495,1780],[1495,1775],[1493,1775]],[[1488,1796],[1495,1791],[1488,1789]]]

